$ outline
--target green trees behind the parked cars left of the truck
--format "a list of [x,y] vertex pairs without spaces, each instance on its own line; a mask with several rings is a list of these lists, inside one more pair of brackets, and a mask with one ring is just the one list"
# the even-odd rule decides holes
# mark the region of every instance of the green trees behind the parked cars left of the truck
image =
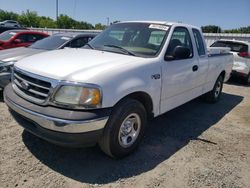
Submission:
[[16,20],[23,27],[41,27],[41,28],[61,28],[61,29],[105,29],[101,23],[92,25],[84,21],[77,21],[68,15],[60,14],[57,20],[50,17],[39,16],[37,12],[27,10],[21,14],[4,11],[0,9],[0,22],[4,20]]

